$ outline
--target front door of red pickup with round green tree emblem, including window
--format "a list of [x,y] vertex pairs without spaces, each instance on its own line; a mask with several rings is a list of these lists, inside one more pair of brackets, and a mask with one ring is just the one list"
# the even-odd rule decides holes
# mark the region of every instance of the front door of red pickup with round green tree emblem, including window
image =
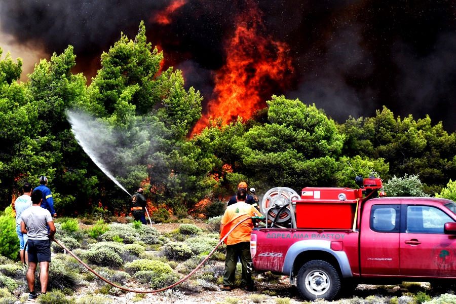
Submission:
[[404,276],[456,276],[456,237],[445,235],[443,210],[426,205],[404,205],[400,236],[400,267]]

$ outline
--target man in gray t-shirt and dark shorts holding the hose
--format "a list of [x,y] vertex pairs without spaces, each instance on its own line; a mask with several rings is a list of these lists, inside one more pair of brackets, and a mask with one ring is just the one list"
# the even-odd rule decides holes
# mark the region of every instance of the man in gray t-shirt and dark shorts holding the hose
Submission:
[[21,215],[21,232],[26,233],[28,237],[27,283],[30,289],[28,298],[35,299],[38,297],[34,289],[35,270],[38,263],[40,263],[41,292],[46,293],[48,288],[51,239],[55,234],[55,225],[51,213],[41,208],[43,193],[40,190],[33,191],[31,200],[32,206],[25,209]]

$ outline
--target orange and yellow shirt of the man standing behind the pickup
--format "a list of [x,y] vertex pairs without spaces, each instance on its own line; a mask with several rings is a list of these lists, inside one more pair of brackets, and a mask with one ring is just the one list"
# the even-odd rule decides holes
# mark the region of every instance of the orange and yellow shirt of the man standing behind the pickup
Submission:
[[[251,216],[261,216],[261,214],[252,205],[245,202],[238,202],[226,208],[221,219],[223,224],[220,231],[220,240],[241,220]],[[250,242],[250,234],[252,233],[253,223],[251,219],[242,222],[232,231],[232,233],[224,240],[226,245],[234,245],[241,242]]]

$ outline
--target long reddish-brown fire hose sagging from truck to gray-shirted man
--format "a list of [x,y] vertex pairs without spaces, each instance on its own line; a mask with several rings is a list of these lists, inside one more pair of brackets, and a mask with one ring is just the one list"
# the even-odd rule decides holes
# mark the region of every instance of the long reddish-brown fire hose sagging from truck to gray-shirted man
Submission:
[[54,242],[56,242],[60,247],[62,247],[64,250],[66,250],[66,252],[68,252],[72,257],[74,257],[78,262],[80,262],[81,264],[84,265],[85,268],[87,268],[91,273],[93,273],[95,276],[97,276],[98,278],[100,278],[101,280],[103,280],[104,282],[116,287],[116,288],[119,288],[119,289],[122,289],[122,290],[125,290],[125,291],[129,291],[129,292],[136,292],[136,293],[157,293],[157,292],[160,292],[160,291],[164,291],[166,289],[169,289],[169,288],[172,288],[180,283],[182,283],[183,281],[185,281],[186,279],[188,279],[191,275],[193,275],[207,260],[208,258],[215,252],[215,250],[217,250],[218,246],[221,245],[221,243],[226,239],[227,236],[229,236],[233,230],[236,229],[237,226],[239,226],[242,222],[248,220],[248,219],[259,219],[259,220],[262,220],[264,219],[262,216],[252,216],[252,217],[247,217],[243,220],[241,220],[239,223],[237,223],[217,244],[217,246],[215,246],[214,249],[212,249],[212,251],[209,253],[209,255],[197,266],[197,268],[195,268],[191,273],[189,273],[188,275],[186,275],[185,277],[183,277],[180,281],[170,285],[170,286],[167,286],[167,287],[164,287],[162,289],[157,289],[157,290],[148,290],[148,291],[144,291],[144,290],[134,290],[134,289],[128,289],[128,288],[125,288],[125,287],[122,287],[122,286],[119,286],[119,285],[116,285],[112,282],[109,282],[108,280],[106,280],[105,278],[103,278],[102,276],[100,276],[99,274],[97,274],[94,270],[92,270],[86,263],[84,263],[79,257],[77,257],[74,253],[72,253],[70,250],[68,250],[62,243],[60,243],[59,241],[57,241],[56,239],[54,239],[54,237],[52,237],[52,240]]

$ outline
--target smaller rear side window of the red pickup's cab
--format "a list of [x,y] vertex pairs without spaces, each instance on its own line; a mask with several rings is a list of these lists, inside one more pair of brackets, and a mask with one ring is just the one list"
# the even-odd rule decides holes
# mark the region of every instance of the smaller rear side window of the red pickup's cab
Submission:
[[373,205],[370,229],[375,232],[399,232],[399,205]]

